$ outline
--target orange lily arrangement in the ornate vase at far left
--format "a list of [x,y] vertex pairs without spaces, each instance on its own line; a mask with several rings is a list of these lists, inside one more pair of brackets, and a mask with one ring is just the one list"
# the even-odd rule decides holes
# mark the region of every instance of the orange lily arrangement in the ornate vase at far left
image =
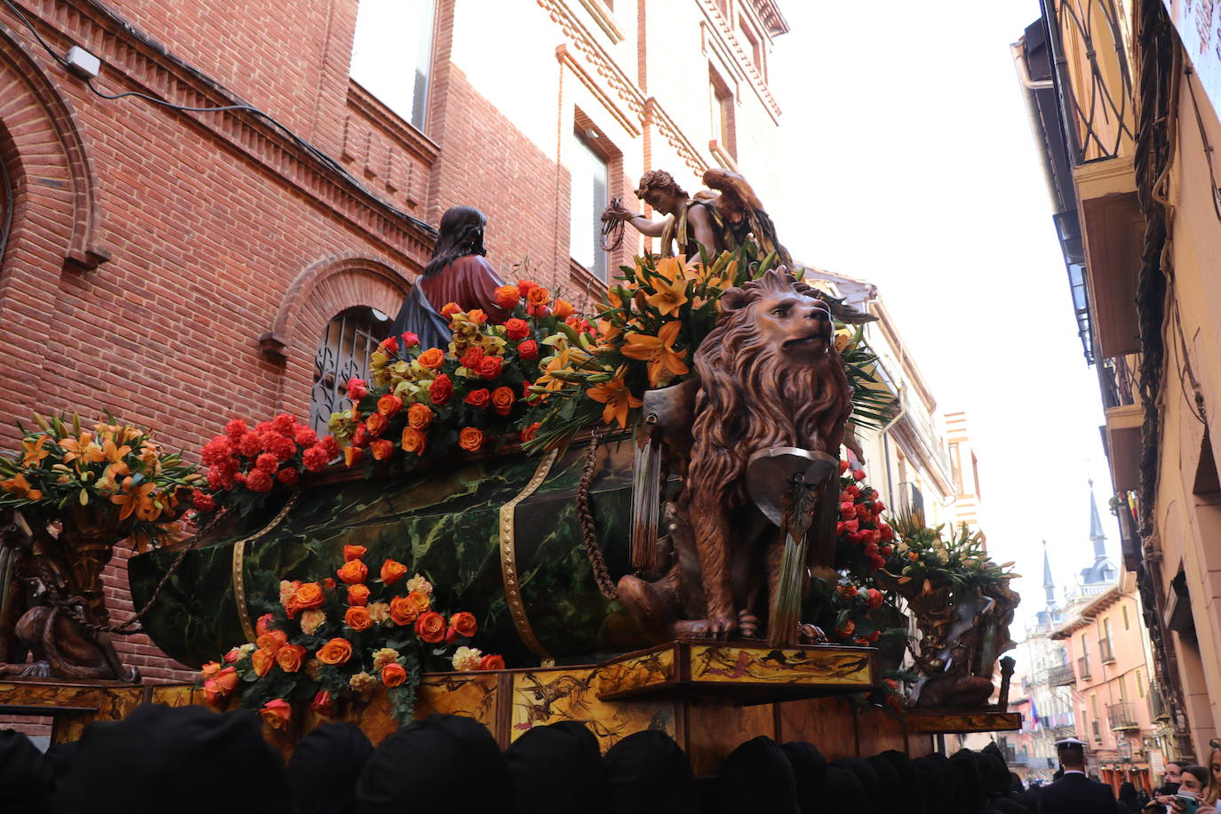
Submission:
[[92,430],[74,414],[35,415],[34,423],[28,432],[18,423],[21,452],[0,452],[0,506],[31,509],[46,522],[89,510],[107,517],[116,538],[144,548],[173,530],[188,491],[203,480],[181,453],[109,414]]

